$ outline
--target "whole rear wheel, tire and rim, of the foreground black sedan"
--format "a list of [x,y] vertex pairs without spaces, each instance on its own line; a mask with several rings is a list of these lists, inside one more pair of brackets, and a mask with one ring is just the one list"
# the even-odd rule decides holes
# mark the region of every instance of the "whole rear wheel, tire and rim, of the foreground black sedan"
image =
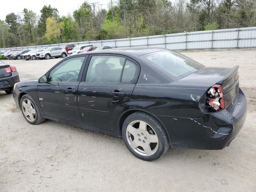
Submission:
[[[135,112],[124,120],[122,136],[128,150],[145,161],[160,158],[170,146],[162,124],[144,112]],[[144,150],[143,146],[147,150]]]

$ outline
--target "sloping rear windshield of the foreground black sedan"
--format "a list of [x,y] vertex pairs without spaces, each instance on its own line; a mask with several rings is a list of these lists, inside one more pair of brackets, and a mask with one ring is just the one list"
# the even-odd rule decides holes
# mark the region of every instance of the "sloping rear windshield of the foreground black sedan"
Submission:
[[175,81],[204,67],[202,64],[171,50],[153,52],[142,57],[159,67],[160,70],[167,72]]

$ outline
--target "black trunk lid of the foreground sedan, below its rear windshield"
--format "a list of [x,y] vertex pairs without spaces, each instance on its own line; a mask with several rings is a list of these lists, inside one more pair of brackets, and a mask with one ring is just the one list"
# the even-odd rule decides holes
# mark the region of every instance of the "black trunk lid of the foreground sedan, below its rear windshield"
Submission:
[[178,82],[216,84],[230,72],[230,68],[204,67],[178,80]]

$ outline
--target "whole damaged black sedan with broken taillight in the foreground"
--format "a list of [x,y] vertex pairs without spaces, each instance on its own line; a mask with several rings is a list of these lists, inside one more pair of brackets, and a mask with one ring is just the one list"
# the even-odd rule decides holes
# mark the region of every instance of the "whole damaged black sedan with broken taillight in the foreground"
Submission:
[[69,56],[38,80],[16,83],[13,96],[30,124],[51,119],[121,137],[150,161],[169,146],[229,146],[246,118],[238,82],[238,66],[205,67],[163,48],[120,48]]

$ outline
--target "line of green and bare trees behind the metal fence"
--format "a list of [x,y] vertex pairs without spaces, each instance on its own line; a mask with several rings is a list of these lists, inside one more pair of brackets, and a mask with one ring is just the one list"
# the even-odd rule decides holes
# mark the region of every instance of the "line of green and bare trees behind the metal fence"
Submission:
[[108,10],[84,2],[60,16],[45,5],[0,20],[0,47],[105,40],[256,26],[256,0],[117,0]]

